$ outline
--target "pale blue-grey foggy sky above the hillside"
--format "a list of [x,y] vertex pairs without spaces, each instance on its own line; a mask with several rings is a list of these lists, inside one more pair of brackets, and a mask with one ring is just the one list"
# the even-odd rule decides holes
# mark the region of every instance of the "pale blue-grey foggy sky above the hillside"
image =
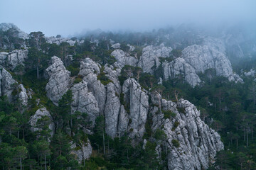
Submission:
[[0,23],[48,36],[240,21],[255,23],[256,0],[0,0]]

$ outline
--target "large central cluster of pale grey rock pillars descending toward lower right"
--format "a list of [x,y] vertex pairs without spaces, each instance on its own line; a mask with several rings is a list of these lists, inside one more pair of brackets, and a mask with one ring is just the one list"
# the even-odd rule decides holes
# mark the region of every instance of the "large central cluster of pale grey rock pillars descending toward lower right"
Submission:
[[[110,79],[106,85],[98,79],[102,70]],[[86,58],[80,64],[79,76],[82,81],[78,84],[70,83],[71,78],[58,57],[52,57],[51,65],[46,71],[50,77],[49,82],[55,80],[55,89],[72,90],[72,111],[87,113],[92,127],[95,118],[104,115],[105,132],[110,137],[122,136],[127,132],[134,141],[141,141],[146,131],[148,115],[153,115],[152,130],[160,128],[166,134],[166,140],[163,142],[166,142],[168,148],[169,169],[207,169],[216,152],[223,149],[220,135],[203,123],[199,117],[200,111],[193,104],[183,99],[177,103],[166,101],[160,94],[144,90],[133,78],[125,80],[121,86],[118,81],[121,72],[119,68],[107,64],[102,68],[100,64]],[[68,85],[60,77],[68,77],[65,78],[69,82]],[[55,89],[47,89],[48,94],[53,94]],[[63,94],[65,93],[58,93],[49,98],[56,104]],[[183,108],[184,113],[178,108]],[[172,119],[164,118],[162,111],[172,111],[176,115]],[[178,125],[174,129],[177,122]],[[177,140],[180,147],[174,146],[174,140]],[[157,152],[164,152],[160,145],[157,146]],[[73,147],[77,146],[74,144]],[[86,146],[74,150],[74,153],[81,162],[85,155],[85,158],[90,157],[91,149],[88,140]]]

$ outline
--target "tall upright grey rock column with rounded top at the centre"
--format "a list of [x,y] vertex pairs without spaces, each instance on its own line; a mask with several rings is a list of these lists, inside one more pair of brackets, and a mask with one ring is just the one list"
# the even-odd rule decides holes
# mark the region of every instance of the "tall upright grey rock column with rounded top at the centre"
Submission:
[[124,103],[129,108],[128,131],[130,137],[141,138],[145,132],[145,123],[149,111],[149,96],[135,79],[130,78],[124,81],[122,93],[124,94]]

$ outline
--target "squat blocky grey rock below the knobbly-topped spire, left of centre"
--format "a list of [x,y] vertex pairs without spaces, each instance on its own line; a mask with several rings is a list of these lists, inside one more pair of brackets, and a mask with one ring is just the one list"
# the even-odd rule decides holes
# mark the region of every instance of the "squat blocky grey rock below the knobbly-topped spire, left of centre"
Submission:
[[73,94],[72,112],[80,111],[81,113],[87,113],[93,127],[95,119],[99,115],[99,108],[95,96],[87,89],[87,82],[82,81],[75,84],[71,90]]

